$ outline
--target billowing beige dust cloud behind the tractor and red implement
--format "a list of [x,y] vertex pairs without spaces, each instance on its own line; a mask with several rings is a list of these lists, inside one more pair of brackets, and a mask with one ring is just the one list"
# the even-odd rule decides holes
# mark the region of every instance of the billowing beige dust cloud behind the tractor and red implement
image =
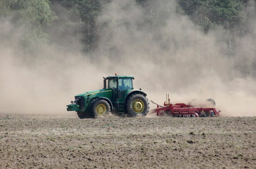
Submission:
[[[188,16],[177,14],[174,0],[147,5],[111,1],[96,21],[100,38],[93,59],[50,45],[40,46],[36,56],[26,56],[18,50],[25,28],[17,29],[9,18],[1,18],[0,35],[12,35],[0,39],[0,111],[73,113],[65,105],[74,95],[101,89],[102,76],[117,72],[134,75],[135,89],[142,88],[160,105],[166,93],[173,103],[214,98],[222,116],[255,116],[256,80],[244,76],[244,67],[232,68],[249,56],[255,59],[255,49],[248,49],[255,40],[241,37],[238,52],[231,57],[221,27],[202,33]],[[250,7],[255,8],[253,1]],[[150,25],[152,18],[145,16],[159,17],[161,23]],[[256,25],[255,18],[251,24]]]

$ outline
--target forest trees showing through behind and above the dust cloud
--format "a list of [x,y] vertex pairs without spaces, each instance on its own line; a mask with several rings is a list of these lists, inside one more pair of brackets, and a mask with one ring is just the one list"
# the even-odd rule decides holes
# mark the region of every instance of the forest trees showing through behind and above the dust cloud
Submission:
[[[160,1],[136,0],[136,3],[148,9],[150,2]],[[108,3],[111,0],[0,0],[0,18],[8,18],[13,25],[26,28],[19,42],[26,55],[33,55],[39,46],[53,45],[58,50],[65,48],[81,57],[93,58],[100,31],[96,19]],[[202,34],[221,27],[226,32],[222,41],[229,46],[227,55],[232,57],[239,52],[236,47],[240,37],[249,34],[256,40],[255,23],[250,23],[256,16],[254,5],[253,0],[177,0],[176,11],[178,15],[188,15],[196,25],[195,29]],[[145,15],[150,15],[147,20],[149,26],[164,24],[157,12],[145,12]],[[9,36],[0,34],[0,39],[8,40]],[[69,49],[66,49],[67,44]],[[255,44],[250,44],[249,50],[251,54],[248,56],[252,57],[245,62],[243,73],[256,77],[253,73],[256,67],[256,60],[253,59]]]

